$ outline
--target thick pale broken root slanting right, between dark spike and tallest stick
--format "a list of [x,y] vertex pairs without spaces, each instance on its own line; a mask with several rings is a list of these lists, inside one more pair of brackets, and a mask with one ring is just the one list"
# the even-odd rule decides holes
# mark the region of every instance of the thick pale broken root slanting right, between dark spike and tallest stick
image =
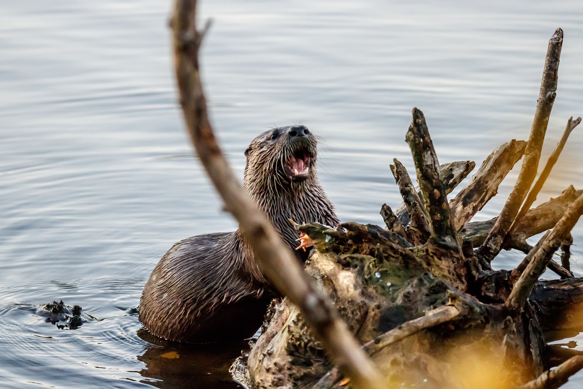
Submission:
[[[525,141],[512,139],[496,148],[484,160],[480,169],[470,178],[468,185],[449,202],[456,230],[461,230],[476,212],[497,194],[498,186],[522,158],[525,148]],[[474,247],[478,247],[479,244],[474,243]]]

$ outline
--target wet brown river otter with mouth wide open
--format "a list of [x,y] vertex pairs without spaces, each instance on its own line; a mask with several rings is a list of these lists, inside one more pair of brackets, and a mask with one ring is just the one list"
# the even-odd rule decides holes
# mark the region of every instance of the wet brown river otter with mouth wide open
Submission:
[[[307,127],[294,125],[264,132],[245,150],[245,190],[292,248],[298,233],[288,219],[339,222],[318,181],[316,143]],[[204,234],[164,254],[143,290],[139,320],[173,341],[243,339],[261,325],[275,295],[238,230]]]

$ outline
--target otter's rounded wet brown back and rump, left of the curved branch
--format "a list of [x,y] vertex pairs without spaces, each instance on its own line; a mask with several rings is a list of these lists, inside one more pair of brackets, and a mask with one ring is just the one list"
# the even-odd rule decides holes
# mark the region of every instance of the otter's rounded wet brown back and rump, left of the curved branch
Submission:
[[236,232],[198,235],[164,254],[140,299],[139,319],[152,334],[209,342],[257,330],[272,296],[245,276],[246,251],[237,238]]

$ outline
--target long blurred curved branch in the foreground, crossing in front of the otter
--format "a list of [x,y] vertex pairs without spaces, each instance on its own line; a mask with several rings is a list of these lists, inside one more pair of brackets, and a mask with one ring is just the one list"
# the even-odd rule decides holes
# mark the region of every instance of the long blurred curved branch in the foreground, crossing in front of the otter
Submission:
[[[177,0],[171,23],[175,71],[188,133],[201,162],[238,220],[255,259],[276,288],[296,304],[333,363],[359,388],[378,388],[383,379],[350,334],[331,302],[315,287],[271,222],[241,187],[220,151],[209,122],[198,62],[202,34],[196,29],[196,1]],[[285,269],[285,270],[284,270]]]

